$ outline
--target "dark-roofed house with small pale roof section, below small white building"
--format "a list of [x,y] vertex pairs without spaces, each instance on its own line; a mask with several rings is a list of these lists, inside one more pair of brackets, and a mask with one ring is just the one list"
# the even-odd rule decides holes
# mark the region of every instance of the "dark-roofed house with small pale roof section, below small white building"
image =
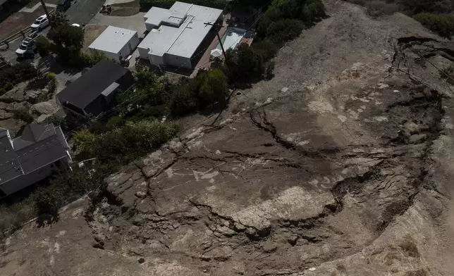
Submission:
[[128,69],[102,60],[57,94],[57,99],[67,120],[75,122],[109,110],[116,92],[133,84],[134,77]]

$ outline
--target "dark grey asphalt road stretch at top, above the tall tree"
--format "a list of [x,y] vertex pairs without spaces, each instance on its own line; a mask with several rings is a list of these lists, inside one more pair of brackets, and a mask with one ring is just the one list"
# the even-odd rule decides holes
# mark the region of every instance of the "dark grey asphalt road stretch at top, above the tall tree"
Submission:
[[105,0],[76,0],[66,11],[70,23],[87,24],[104,5]]

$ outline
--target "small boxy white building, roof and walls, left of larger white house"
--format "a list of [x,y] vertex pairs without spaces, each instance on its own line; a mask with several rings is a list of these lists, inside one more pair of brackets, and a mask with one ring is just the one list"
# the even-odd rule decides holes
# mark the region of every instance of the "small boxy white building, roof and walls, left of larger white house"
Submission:
[[99,51],[109,58],[120,61],[133,54],[139,42],[139,36],[136,31],[109,26],[88,46],[88,49],[90,49],[92,54],[94,54],[94,51]]

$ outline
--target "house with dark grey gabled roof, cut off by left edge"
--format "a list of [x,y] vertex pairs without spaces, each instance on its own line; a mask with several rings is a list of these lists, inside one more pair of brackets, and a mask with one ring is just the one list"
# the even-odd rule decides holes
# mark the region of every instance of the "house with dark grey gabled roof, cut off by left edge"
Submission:
[[0,127],[0,197],[44,180],[59,165],[70,162],[61,127],[32,123],[14,139]]

